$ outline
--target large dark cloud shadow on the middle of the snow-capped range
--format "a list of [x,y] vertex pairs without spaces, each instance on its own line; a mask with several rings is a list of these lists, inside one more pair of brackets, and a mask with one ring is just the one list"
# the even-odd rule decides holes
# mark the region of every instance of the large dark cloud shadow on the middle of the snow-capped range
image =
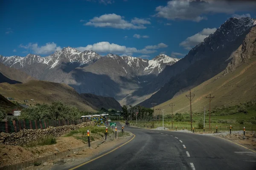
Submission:
[[106,74],[93,74],[81,68],[74,69],[71,74],[77,83],[70,83],[69,85],[75,88],[79,94],[90,93],[99,96],[113,97],[121,91],[120,85]]

